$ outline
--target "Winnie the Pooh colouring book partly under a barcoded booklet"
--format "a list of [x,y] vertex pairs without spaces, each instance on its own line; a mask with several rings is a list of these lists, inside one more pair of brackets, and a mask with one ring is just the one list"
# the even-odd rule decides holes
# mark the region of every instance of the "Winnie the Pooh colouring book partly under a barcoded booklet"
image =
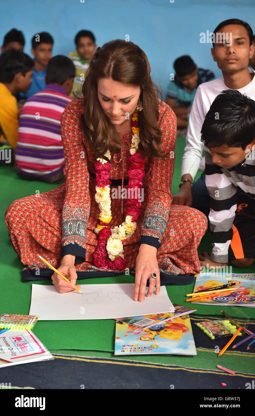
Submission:
[[189,316],[183,315],[171,322],[157,322],[144,329],[116,321],[114,354],[196,355]]

